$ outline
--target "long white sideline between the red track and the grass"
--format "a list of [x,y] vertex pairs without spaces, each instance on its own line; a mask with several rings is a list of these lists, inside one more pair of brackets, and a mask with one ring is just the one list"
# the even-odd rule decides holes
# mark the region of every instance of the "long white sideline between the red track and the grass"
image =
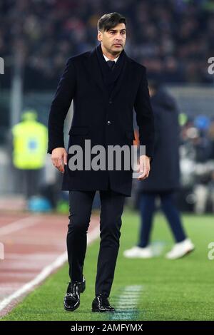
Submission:
[[[88,233],[87,244],[91,244],[91,242],[93,242],[99,236],[99,234],[100,234],[100,227],[98,226],[98,227],[95,227],[91,232]],[[61,267],[63,263],[66,262],[66,260],[67,260],[67,252],[63,252],[63,254],[57,257],[57,259],[54,262],[44,267],[44,269],[33,280],[31,280],[31,282],[24,284],[23,287],[21,287],[16,292],[11,294],[9,297],[2,300],[0,302],[0,311],[2,311],[2,309],[8,306],[11,303],[11,301],[19,298],[23,294],[26,294],[33,287],[43,282],[44,279],[49,277],[51,272],[53,272],[55,269],[58,269],[58,267]]]

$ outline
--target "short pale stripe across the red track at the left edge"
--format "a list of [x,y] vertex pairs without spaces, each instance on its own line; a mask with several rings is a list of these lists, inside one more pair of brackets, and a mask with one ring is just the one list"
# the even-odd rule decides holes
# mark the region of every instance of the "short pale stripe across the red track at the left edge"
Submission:
[[15,222],[10,223],[4,227],[0,228],[0,236],[11,234],[11,232],[17,232],[17,230],[21,230],[26,227],[31,227],[36,225],[36,223],[41,222],[41,216],[35,217],[31,215],[29,217],[24,217],[24,219],[17,220]]

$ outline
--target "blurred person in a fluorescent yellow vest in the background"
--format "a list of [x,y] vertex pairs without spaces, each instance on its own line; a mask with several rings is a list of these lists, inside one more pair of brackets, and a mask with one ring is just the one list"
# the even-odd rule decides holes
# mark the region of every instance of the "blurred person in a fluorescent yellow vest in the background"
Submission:
[[36,119],[35,110],[25,110],[21,115],[21,122],[11,129],[12,160],[14,167],[21,172],[19,175],[24,181],[26,200],[38,194],[46,160],[48,130]]

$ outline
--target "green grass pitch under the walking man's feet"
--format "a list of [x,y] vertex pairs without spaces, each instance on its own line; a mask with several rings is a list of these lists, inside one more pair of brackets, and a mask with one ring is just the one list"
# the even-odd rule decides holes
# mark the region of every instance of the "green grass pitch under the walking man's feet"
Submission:
[[[73,312],[63,310],[63,295],[68,282],[68,265],[51,275],[31,292],[2,320],[213,320],[214,259],[208,259],[208,244],[214,242],[214,220],[211,215],[183,215],[185,230],[195,244],[195,251],[178,260],[164,258],[173,245],[173,237],[163,215],[156,215],[152,242],[162,245],[161,254],[153,259],[126,259],[123,250],[132,247],[138,237],[136,212],[123,213],[121,247],[118,254],[110,302],[117,309],[127,287],[141,287],[135,303],[114,314],[91,312],[94,297],[99,241],[86,253],[84,275],[86,291],[81,306]],[[125,294],[126,295],[126,294]],[[130,297],[127,294],[127,297]],[[127,298],[125,297],[125,299]],[[124,301],[124,300],[123,300]]]

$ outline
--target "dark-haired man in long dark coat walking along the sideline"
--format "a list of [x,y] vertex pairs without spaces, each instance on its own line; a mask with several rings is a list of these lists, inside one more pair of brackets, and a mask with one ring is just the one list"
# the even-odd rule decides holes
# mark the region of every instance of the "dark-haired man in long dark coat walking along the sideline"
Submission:
[[[126,19],[118,13],[102,16],[98,20],[98,41],[101,43],[93,51],[68,59],[49,115],[48,152],[52,154],[54,166],[63,172],[62,189],[69,190],[67,247],[71,282],[64,299],[68,311],[79,306],[79,295],[86,285],[83,276],[86,232],[96,190],[100,191],[101,197],[101,247],[92,311],[114,311],[108,296],[116,267],[124,200],[131,196],[133,169],[127,170],[123,166],[126,158],[122,158],[123,168],[118,170],[113,165],[113,169],[105,170],[102,164],[108,166],[107,162],[111,163],[106,154],[100,168],[91,168],[96,158],[95,149],[98,145],[106,150],[112,145],[131,148],[135,108],[140,142],[146,146],[146,153],[140,157],[139,180],[148,177],[153,156],[153,113],[146,68],[126,56]],[[63,143],[63,122],[71,100],[73,120],[67,153]],[[87,147],[86,140],[91,141],[90,148],[94,150]],[[82,155],[73,155],[73,148],[81,148]],[[88,167],[86,156],[89,151],[91,165]],[[80,157],[83,162],[78,160]]]

